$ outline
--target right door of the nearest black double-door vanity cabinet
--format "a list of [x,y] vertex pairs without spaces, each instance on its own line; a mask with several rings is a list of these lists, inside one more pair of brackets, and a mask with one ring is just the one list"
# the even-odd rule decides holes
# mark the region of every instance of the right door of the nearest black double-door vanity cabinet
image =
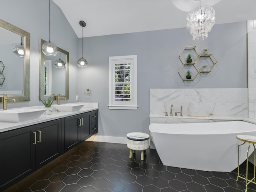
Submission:
[[61,119],[36,125],[36,169],[61,154]]

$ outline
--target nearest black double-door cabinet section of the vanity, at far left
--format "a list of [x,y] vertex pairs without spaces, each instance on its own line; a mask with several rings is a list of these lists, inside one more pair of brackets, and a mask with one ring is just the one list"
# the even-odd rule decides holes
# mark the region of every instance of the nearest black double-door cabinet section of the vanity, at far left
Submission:
[[0,133],[0,191],[60,155],[61,120]]

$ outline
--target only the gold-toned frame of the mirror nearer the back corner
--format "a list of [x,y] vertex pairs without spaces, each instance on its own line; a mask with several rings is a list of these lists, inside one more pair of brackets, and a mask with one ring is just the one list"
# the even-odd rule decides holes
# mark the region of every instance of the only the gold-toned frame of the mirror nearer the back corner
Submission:
[[[39,39],[39,100],[44,98],[44,53],[42,52],[42,44],[46,41]],[[69,77],[68,77],[68,68],[69,68],[69,53],[58,47],[58,52],[66,55],[66,95],[61,95],[61,97],[69,98]]]

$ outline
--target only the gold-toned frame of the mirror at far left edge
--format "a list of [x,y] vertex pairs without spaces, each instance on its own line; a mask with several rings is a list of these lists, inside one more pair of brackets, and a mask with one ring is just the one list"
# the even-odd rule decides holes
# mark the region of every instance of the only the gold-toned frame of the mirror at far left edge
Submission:
[[[15,99],[17,102],[30,101],[30,33],[1,19],[0,27],[23,36],[24,38],[24,92],[23,95],[10,94],[8,96]],[[3,102],[2,100],[2,97],[0,97],[0,102]]]

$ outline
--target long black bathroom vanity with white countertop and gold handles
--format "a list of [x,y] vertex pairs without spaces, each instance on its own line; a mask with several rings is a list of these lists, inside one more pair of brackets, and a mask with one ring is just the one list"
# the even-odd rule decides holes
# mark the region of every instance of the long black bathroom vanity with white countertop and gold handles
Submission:
[[[10,126],[8,126],[10,124]],[[21,123],[0,122],[0,191],[98,132],[98,104]]]

